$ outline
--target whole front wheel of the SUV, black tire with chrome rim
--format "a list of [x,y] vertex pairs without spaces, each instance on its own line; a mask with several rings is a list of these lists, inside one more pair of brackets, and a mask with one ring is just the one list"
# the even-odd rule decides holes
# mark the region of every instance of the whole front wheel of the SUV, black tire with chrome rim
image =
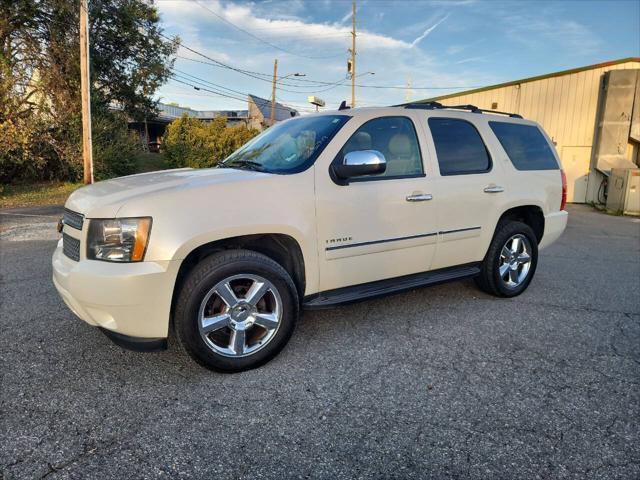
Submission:
[[189,272],[174,324],[178,342],[194,360],[233,373],[280,353],[299,315],[296,287],[282,266],[257,252],[226,250]]

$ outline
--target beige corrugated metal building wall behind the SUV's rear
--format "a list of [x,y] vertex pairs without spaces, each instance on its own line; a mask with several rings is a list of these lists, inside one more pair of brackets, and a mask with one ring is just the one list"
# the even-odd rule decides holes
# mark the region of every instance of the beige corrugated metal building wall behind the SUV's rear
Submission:
[[[609,70],[637,68],[640,68],[640,62],[629,61],[440,101],[445,105],[472,104],[484,109],[519,113],[540,123],[556,143],[563,166],[568,170],[567,175],[574,177],[570,200],[584,202],[588,199],[589,163],[602,74]],[[577,163],[569,165],[570,162]]]

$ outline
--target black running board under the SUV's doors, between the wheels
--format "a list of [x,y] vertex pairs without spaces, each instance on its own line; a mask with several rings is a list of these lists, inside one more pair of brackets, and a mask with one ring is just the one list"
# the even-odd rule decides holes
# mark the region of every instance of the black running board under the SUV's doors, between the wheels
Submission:
[[304,298],[302,306],[307,310],[330,308],[336,305],[359,302],[370,298],[393,295],[414,288],[452,282],[463,278],[475,277],[480,273],[480,264],[472,263],[458,267],[443,268],[431,272],[416,273],[398,278],[389,278],[377,282],[362,283],[353,287],[338,288],[326,292],[309,295]]

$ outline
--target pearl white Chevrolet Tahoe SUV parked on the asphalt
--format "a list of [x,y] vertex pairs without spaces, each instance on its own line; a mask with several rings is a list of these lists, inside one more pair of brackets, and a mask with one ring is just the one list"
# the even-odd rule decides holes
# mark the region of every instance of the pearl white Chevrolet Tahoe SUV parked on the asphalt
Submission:
[[164,348],[171,326],[204,366],[246,370],[303,308],[468,277],[522,293],[567,223],[559,165],[536,123],[473,106],[298,117],[217,168],[73,193],[53,281],[121,346]]

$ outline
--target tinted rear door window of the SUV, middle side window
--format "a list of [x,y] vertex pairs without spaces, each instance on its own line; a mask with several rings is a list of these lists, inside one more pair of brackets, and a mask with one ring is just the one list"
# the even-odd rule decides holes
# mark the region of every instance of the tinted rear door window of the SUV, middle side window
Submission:
[[470,122],[431,117],[429,129],[436,147],[440,175],[468,175],[491,170],[491,157]]

